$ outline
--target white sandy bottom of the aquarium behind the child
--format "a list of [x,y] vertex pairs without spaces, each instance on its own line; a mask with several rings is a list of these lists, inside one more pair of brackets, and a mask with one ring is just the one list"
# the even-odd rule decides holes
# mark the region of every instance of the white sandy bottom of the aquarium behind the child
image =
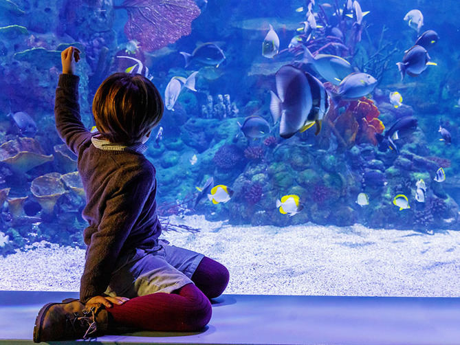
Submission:
[[[171,219],[201,232],[164,232],[230,271],[225,293],[460,296],[460,232],[435,235],[362,225],[234,226],[204,216]],[[34,243],[0,257],[0,290],[78,291],[85,250]]]

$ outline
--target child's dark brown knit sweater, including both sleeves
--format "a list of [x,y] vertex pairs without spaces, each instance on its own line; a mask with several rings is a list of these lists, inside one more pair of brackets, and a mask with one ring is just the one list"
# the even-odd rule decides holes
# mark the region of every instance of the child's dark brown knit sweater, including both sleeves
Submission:
[[80,300],[103,296],[117,258],[135,247],[157,245],[162,227],[157,218],[155,168],[142,154],[145,146],[117,146],[97,140],[80,119],[78,81],[59,76],[54,115],[61,139],[78,156],[86,192],[83,232],[86,262]]

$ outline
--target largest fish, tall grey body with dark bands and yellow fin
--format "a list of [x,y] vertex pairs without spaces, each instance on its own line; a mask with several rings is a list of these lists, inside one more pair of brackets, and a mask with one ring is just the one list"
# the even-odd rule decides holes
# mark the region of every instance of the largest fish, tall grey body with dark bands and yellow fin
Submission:
[[330,101],[324,85],[311,74],[292,65],[281,67],[275,74],[276,93],[270,91],[273,122],[280,121],[280,136],[287,139],[316,124],[318,135]]

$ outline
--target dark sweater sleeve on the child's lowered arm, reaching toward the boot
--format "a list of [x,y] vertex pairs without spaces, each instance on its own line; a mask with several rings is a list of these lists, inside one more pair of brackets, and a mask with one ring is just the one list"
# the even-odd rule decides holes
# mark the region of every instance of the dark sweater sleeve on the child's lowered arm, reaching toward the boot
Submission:
[[80,280],[80,301],[86,303],[94,296],[103,296],[109,286],[111,273],[133,225],[144,208],[155,177],[143,170],[118,188],[107,199],[98,231],[91,236],[85,269]]

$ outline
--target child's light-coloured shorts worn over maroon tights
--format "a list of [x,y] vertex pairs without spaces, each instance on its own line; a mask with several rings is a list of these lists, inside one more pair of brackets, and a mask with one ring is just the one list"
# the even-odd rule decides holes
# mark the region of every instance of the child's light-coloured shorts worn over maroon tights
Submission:
[[203,254],[160,239],[152,249],[136,248],[118,258],[105,293],[127,298],[171,293],[192,282],[190,278],[202,258]]

